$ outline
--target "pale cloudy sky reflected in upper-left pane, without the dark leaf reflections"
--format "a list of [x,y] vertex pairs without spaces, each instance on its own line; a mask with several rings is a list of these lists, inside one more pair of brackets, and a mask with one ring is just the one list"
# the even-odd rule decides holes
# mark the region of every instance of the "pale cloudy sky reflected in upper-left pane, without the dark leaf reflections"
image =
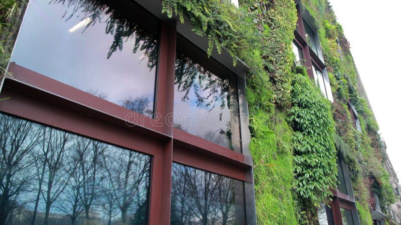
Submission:
[[[148,66],[146,50],[157,51],[157,46],[145,46],[140,41],[134,52],[135,31],[131,30],[133,35],[124,38],[123,44],[107,59],[118,33],[115,29],[113,34],[106,34],[111,16],[104,13],[107,7],[102,10],[94,7],[93,12],[100,12],[100,15],[93,17],[88,27],[70,32],[93,14],[83,11],[82,7],[88,5],[86,1],[74,2],[68,7],[67,2],[31,0],[11,61],[119,105],[126,99],[147,98],[146,107],[152,111],[156,68]],[[74,12],[74,8],[79,9]],[[117,27],[118,23],[114,25]]]

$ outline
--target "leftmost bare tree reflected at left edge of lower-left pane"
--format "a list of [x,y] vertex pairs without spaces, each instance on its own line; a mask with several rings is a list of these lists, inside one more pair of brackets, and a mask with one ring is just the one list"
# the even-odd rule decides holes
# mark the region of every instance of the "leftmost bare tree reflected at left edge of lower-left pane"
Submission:
[[29,121],[0,114],[0,224],[13,209],[27,203],[20,196],[30,190],[34,163],[30,152],[38,145],[40,129]]

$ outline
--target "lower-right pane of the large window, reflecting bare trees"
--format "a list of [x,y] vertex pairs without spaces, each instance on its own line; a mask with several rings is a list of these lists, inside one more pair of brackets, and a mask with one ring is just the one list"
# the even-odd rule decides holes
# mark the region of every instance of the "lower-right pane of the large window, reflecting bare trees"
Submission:
[[246,224],[244,182],[173,163],[170,224]]

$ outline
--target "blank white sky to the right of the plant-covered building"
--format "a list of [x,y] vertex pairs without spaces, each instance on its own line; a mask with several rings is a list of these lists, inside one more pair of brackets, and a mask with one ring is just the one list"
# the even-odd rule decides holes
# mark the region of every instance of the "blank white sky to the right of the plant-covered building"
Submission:
[[363,85],[401,179],[401,0],[329,0],[351,44]]

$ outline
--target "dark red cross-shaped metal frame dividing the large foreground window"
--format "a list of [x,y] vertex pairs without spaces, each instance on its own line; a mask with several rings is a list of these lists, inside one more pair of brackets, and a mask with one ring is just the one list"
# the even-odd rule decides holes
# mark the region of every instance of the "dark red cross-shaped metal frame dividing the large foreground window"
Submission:
[[[173,128],[176,21],[162,21],[155,118],[10,63],[0,111],[152,156],[149,224],[169,224],[172,162],[252,182],[243,154]],[[129,115],[127,117],[127,115]]]

